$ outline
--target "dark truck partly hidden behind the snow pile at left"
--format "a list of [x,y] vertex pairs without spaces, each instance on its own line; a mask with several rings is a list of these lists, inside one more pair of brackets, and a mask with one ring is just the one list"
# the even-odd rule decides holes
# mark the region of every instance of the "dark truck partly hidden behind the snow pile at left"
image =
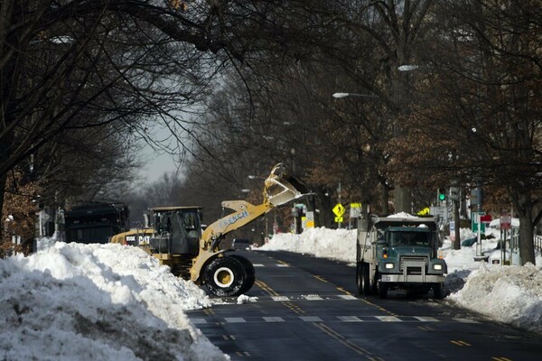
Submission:
[[71,208],[64,214],[66,242],[106,244],[111,236],[129,229],[124,203],[94,203]]

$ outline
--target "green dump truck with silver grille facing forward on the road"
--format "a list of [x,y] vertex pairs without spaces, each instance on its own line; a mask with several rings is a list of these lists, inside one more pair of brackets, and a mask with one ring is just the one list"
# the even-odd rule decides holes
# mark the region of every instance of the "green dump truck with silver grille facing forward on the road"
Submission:
[[389,290],[446,295],[447,266],[439,258],[438,224],[435,218],[360,218],[357,237],[356,282],[360,296]]

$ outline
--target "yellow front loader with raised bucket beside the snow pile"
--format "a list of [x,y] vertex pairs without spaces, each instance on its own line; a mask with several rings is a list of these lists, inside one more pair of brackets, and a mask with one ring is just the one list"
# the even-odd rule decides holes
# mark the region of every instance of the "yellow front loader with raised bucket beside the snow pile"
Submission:
[[[204,285],[211,294],[237,296],[254,284],[254,266],[245,257],[231,254],[230,249],[220,250],[220,241],[229,232],[246,226],[271,209],[308,194],[304,184],[286,174],[283,164],[279,163],[265,180],[261,204],[225,200],[222,208],[233,212],[204,231],[201,231],[201,207],[152,208],[154,228],[138,231],[138,239],[148,240],[139,245],[162,264],[169,265],[174,274]],[[126,232],[114,236],[111,242],[126,244],[126,236],[133,239],[134,234]]]

